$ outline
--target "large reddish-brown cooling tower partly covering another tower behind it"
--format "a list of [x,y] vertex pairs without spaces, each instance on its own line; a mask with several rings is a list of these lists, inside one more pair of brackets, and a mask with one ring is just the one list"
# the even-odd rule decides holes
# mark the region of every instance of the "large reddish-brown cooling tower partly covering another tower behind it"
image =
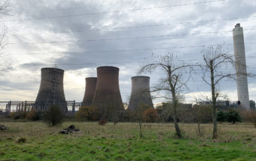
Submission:
[[92,104],[98,107],[102,117],[108,118],[111,113],[123,111],[119,89],[119,68],[101,66],[97,68],[97,84]]

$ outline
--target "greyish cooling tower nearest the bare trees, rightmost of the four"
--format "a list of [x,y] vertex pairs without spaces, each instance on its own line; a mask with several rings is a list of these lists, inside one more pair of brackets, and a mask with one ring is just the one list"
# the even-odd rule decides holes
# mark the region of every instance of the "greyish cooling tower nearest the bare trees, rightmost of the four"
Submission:
[[132,77],[132,93],[128,109],[135,111],[142,104],[153,107],[148,76]]

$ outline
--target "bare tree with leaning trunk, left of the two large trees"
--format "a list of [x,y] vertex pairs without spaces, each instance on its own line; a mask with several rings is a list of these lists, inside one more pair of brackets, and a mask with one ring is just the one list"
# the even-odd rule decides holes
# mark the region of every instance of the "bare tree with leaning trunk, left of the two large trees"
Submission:
[[[153,57],[153,62],[141,67],[139,73],[151,73],[156,69],[164,71],[159,84],[152,88],[151,92],[166,92],[162,98],[172,102],[174,127],[176,134],[181,138],[181,131],[177,122],[177,107],[181,100],[181,91],[187,89],[187,82],[191,78],[192,65],[182,62],[172,53]],[[170,96],[170,97],[169,97]],[[159,96],[161,97],[161,96]],[[156,97],[158,98],[158,97]]]

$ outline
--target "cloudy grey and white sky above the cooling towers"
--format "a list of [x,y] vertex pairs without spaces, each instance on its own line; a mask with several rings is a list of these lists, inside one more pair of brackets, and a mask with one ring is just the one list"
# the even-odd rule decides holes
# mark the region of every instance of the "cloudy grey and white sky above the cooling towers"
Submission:
[[[0,0],[2,3],[4,0]],[[0,101],[34,101],[41,68],[65,70],[68,101],[81,102],[86,77],[96,76],[98,66],[120,68],[120,92],[129,102],[132,76],[152,61],[153,55],[173,53],[184,62],[203,61],[203,46],[224,44],[233,54],[232,29],[244,29],[248,71],[256,69],[256,1],[251,0],[11,0],[9,15],[0,16],[7,27],[6,48],[1,55]],[[151,86],[163,72],[143,73]],[[256,101],[256,79],[248,78],[249,95]],[[183,91],[184,102],[210,97],[210,86],[200,71]],[[218,86],[237,100],[236,81]],[[158,104],[162,99],[154,99]]]

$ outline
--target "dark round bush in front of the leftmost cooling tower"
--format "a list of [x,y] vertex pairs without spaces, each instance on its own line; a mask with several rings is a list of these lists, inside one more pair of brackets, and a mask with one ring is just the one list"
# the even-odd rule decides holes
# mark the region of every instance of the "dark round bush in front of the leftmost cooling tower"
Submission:
[[43,113],[44,122],[52,126],[61,125],[64,118],[65,115],[62,109],[57,105],[50,106],[49,109],[46,109]]

